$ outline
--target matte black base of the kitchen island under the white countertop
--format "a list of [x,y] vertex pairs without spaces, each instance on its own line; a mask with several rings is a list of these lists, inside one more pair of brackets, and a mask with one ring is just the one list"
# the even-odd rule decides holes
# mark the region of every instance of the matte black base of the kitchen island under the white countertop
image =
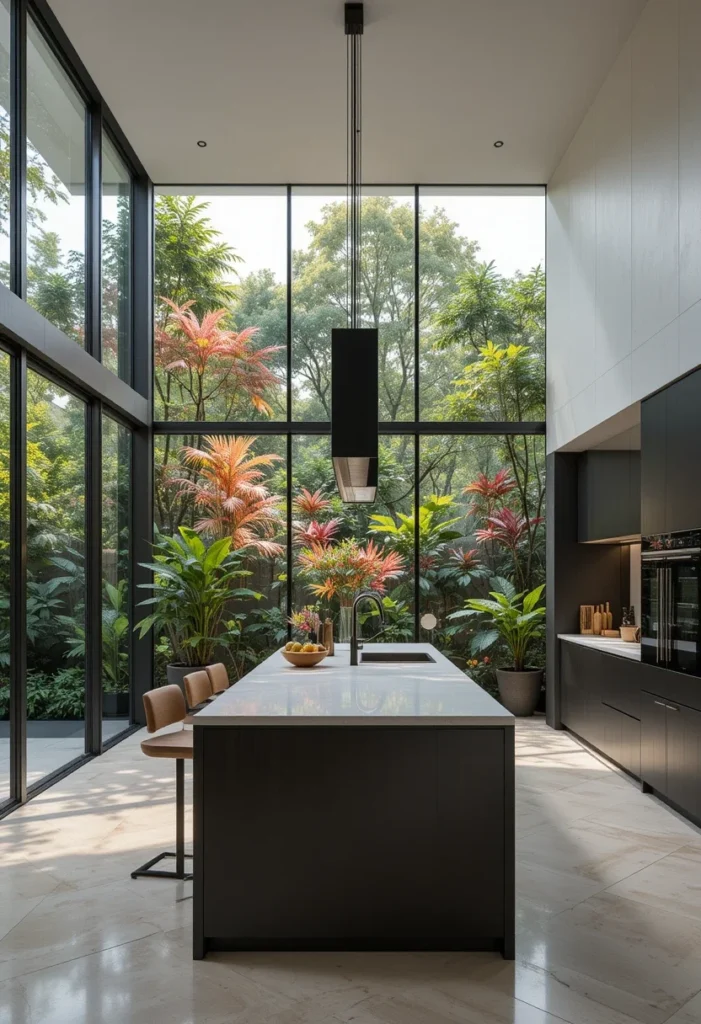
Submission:
[[514,729],[194,729],[193,955],[514,957]]

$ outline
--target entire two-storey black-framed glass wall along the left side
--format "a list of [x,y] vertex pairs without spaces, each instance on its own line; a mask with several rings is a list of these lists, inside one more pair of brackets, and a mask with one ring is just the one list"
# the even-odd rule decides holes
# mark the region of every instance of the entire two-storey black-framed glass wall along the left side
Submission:
[[72,52],[46,4],[0,0],[0,815],[150,684],[150,183]]

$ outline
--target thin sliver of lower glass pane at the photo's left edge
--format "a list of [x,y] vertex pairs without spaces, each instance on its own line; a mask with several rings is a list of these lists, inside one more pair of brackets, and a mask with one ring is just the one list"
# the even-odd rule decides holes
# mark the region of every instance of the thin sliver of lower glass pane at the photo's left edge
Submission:
[[10,357],[0,351],[0,804],[10,771]]

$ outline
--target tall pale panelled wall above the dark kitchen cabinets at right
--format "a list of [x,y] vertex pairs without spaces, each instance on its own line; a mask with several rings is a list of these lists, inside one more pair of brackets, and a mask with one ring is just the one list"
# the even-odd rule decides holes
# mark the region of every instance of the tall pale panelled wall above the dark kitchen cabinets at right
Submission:
[[649,0],[547,194],[547,449],[701,365],[701,0]]

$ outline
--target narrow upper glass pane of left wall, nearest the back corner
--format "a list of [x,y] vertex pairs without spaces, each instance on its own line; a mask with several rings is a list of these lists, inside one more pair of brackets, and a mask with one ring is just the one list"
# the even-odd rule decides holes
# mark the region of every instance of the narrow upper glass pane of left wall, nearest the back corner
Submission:
[[131,380],[131,175],[102,133],[102,362]]

